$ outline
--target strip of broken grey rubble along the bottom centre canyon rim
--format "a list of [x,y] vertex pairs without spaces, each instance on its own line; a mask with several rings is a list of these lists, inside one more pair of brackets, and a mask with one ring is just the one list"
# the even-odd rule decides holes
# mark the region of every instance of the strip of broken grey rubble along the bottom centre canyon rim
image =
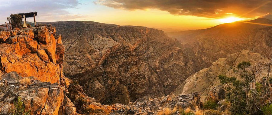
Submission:
[[200,107],[202,103],[200,102],[200,94],[196,92],[192,94],[179,94],[178,96],[171,93],[165,97],[154,99],[145,96],[137,99],[134,103],[129,102],[127,105],[113,104],[112,106],[117,109],[111,113],[112,115],[155,115],[166,108]]

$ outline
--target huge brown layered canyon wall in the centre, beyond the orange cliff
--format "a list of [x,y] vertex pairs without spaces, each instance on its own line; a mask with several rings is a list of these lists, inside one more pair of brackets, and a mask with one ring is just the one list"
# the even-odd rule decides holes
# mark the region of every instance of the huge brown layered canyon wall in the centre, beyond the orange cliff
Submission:
[[65,46],[63,73],[103,104],[162,97],[205,63],[163,31],[92,21],[56,26]]

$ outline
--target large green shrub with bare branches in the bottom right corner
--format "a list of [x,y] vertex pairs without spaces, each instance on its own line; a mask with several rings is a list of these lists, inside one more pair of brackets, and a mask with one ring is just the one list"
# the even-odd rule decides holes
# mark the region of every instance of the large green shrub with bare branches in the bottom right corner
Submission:
[[[242,61],[238,64],[238,70],[234,72],[240,78],[227,77],[219,75],[221,84],[226,84],[227,92],[225,94],[226,100],[230,103],[228,111],[235,115],[255,115],[266,112],[270,114],[269,107],[260,108],[263,104],[270,102],[271,90],[270,87],[265,86],[264,82],[257,82],[255,89],[251,86],[252,82],[256,82],[256,73],[262,71],[263,67],[251,66],[250,62]],[[268,111],[268,112],[267,112]]]

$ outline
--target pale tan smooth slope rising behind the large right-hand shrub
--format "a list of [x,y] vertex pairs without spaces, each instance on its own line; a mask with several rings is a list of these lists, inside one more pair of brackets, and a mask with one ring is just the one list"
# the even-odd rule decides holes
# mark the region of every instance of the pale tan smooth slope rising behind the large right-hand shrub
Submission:
[[[235,54],[231,54],[226,58],[219,58],[217,61],[212,63],[210,67],[202,69],[191,75],[176,88],[173,94],[199,92],[201,94],[201,100],[205,101],[211,94],[210,90],[216,90],[216,88],[220,85],[217,76],[224,74],[229,77],[238,77],[238,75],[235,74],[234,69],[237,69],[237,65],[242,61],[250,61],[253,65],[257,63],[265,64],[266,62],[270,62],[269,58],[266,58],[261,54],[248,50],[242,50]],[[263,74],[265,74],[265,72]],[[257,78],[258,81],[261,77]]]

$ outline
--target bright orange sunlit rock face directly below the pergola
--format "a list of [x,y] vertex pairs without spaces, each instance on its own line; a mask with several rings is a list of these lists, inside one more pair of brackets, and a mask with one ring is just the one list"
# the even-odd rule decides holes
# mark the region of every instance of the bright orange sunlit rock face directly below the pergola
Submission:
[[60,83],[64,47],[55,32],[51,25],[0,31],[0,73],[16,71],[22,77]]

